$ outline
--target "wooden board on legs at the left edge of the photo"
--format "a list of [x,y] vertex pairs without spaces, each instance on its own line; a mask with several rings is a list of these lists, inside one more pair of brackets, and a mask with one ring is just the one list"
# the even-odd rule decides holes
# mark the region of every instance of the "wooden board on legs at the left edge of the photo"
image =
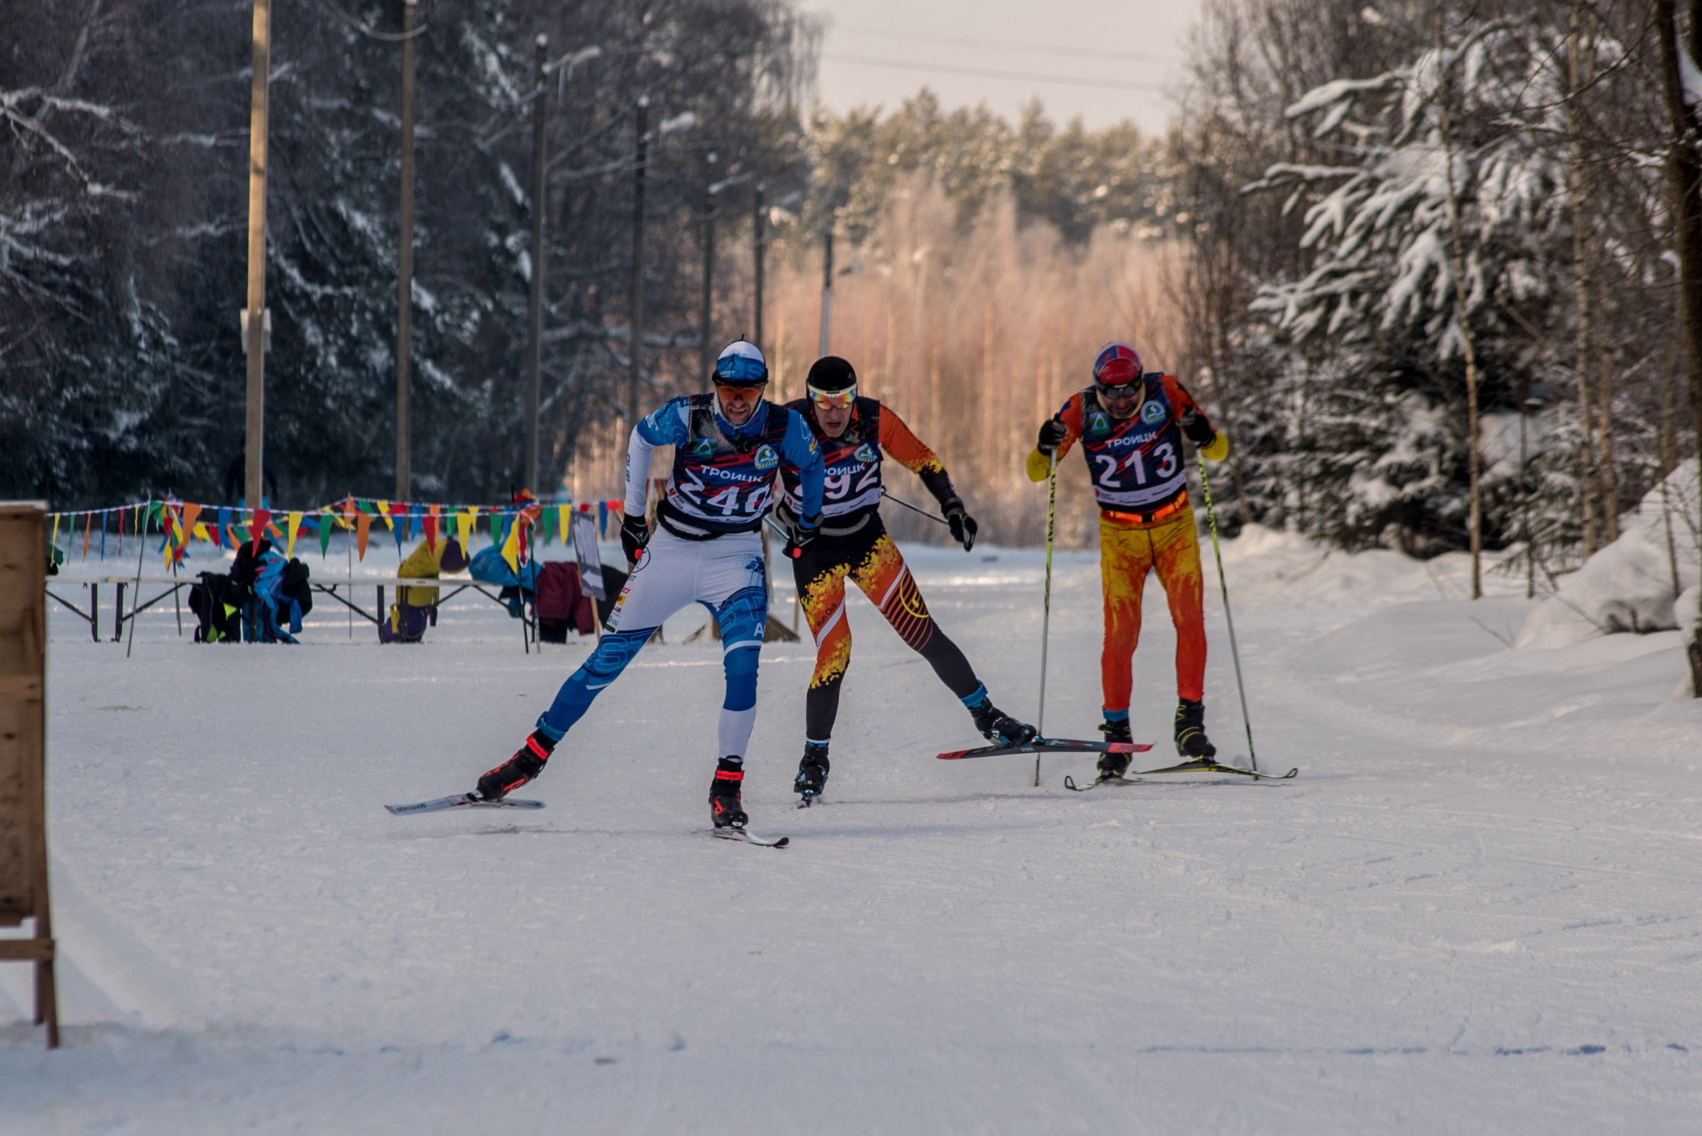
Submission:
[[0,502],[0,963],[36,964],[36,1024],[60,1044],[48,915],[46,660],[48,505]]

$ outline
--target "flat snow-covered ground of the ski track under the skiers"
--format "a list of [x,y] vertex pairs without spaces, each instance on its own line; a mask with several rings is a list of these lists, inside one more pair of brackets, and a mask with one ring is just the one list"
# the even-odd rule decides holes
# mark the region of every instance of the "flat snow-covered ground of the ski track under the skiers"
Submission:
[[[1033,714],[1040,553],[909,553]],[[468,787],[587,646],[524,655],[456,605],[424,646],[322,607],[301,648],[201,648],[167,611],[126,660],[56,614],[70,1027],[44,1053],[0,998],[0,1131],[1695,1131],[1678,633],[1511,650],[1532,604],[1501,577],[1467,602],[1460,556],[1258,531],[1225,556],[1259,764],[1297,779],[1082,796],[1088,758],[1040,789],[1028,758],[938,762],[967,714],[854,599],[812,811],[810,653],[764,651],[745,801],[778,852],[701,835],[720,656],[693,612],[528,787],[548,809],[412,818],[380,806]],[[1244,753],[1207,587],[1207,721]],[[1156,582],[1147,621],[1134,724],[1164,764]],[[1093,736],[1098,651],[1096,559],[1062,554],[1048,733]]]

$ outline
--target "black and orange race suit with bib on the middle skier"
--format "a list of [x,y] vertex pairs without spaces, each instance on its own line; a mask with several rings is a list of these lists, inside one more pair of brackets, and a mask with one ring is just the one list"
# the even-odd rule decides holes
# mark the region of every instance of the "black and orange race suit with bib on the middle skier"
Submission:
[[[899,546],[880,520],[880,466],[890,454],[922,478],[943,503],[955,497],[951,478],[899,415],[873,398],[853,403],[851,423],[827,437],[808,400],[788,403],[803,415],[822,449],[822,527],[815,544],[791,561],[803,616],[815,636],[815,673],[805,696],[805,738],[825,745],[839,716],[839,685],[851,665],[851,624],[846,621],[846,578],[880,609],[892,629],[940,675],[960,699],[982,690],[963,651],[946,638],[928,612]],[[786,505],[797,508],[797,480],[785,478]]]

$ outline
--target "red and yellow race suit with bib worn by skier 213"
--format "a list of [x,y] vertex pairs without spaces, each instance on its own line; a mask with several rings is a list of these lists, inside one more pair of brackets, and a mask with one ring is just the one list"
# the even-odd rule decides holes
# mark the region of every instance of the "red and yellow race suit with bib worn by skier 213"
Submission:
[[[1140,406],[1113,418],[1093,388],[1071,395],[1059,412],[1067,434],[1059,461],[1081,440],[1099,502],[1099,585],[1105,595],[1105,648],[1099,682],[1108,714],[1128,711],[1134,655],[1140,641],[1140,597],[1156,571],[1176,626],[1176,694],[1205,696],[1205,612],[1200,541],[1188,507],[1181,437],[1197,446],[1217,439],[1210,420],[1173,376],[1149,372]],[[1038,476],[1037,476],[1038,473]],[[1047,459],[1028,456],[1028,476],[1043,481]]]

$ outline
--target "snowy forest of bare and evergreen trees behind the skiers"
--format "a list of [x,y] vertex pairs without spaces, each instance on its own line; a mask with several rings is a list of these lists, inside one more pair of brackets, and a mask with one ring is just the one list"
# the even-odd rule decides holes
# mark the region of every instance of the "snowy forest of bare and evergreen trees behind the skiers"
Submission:
[[[519,480],[543,31],[551,54],[603,48],[551,92],[551,478],[614,491],[647,94],[652,124],[694,121],[652,148],[640,401],[701,386],[705,189],[727,179],[711,344],[754,333],[762,185],[776,393],[814,359],[831,224],[834,350],[999,541],[1040,539],[1021,456],[1122,335],[1236,439],[1214,486],[1231,529],[1465,548],[1474,386],[1484,544],[1530,549],[1539,578],[1576,566],[1697,452],[1702,291],[1687,308],[1680,260],[1687,224],[1702,257],[1699,7],[1205,0],[1154,138],[926,90],[808,112],[819,29],[780,0],[431,0],[415,491]],[[216,500],[242,432],[248,7],[5,10],[0,491]],[[279,0],[272,20],[267,463],[303,507],[393,483],[400,3]],[[1089,536],[1076,481],[1065,541]]]

